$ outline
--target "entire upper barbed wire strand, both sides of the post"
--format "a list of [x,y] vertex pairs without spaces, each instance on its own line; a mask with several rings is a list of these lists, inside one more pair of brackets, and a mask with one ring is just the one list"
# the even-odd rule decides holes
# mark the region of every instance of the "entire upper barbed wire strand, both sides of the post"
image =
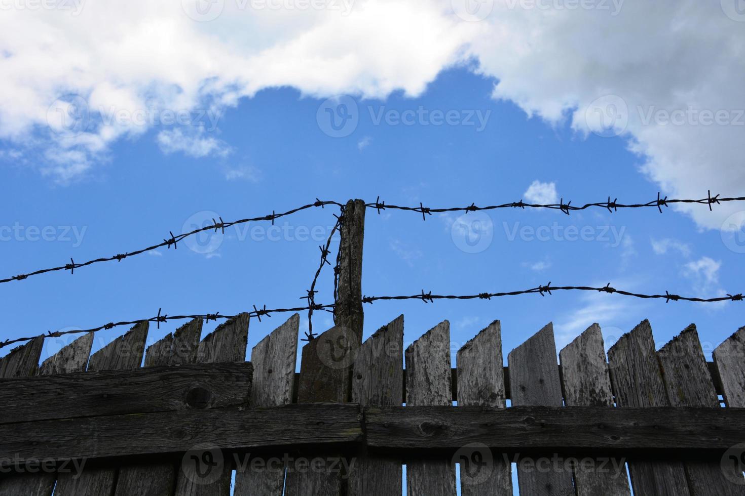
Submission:
[[[662,207],[668,207],[669,204],[676,204],[676,203],[690,203],[690,204],[706,204],[708,205],[708,209],[711,210],[712,204],[720,204],[722,202],[744,202],[745,196],[739,196],[735,198],[720,198],[719,195],[711,196],[711,191],[708,192],[708,195],[704,199],[668,199],[667,196],[665,198],[662,198],[660,196],[660,193],[657,193],[657,199],[652,200],[651,202],[647,203],[636,203],[636,204],[622,204],[618,203],[618,199],[615,199],[611,201],[610,196],[608,197],[607,202],[595,202],[595,203],[587,203],[580,207],[572,206],[571,202],[564,203],[564,199],[560,199],[558,204],[535,204],[535,203],[525,203],[522,200],[519,202],[510,202],[510,203],[504,203],[504,204],[498,204],[498,205],[489,205],[486,207],[478,207],[476,204],[472,203],[466,207],[446,207],[446,208],[432,208],[432,207],[425,207],[421,202],[419,203],[419,207],[405,207],[400,205],[390,205],[385,204],[385,202],[380,201],[380,196],[375,200],[374,203],[366,203],[365,207],[367,208],[373,208],[380,213],[381,210],[409,210],[417,213],[422,214],[422,219],[426,219],[427,215],[432,215],[432,213],[446,213],[446,212],[475,212],[478,210],[495,210],[499,208],[547,208],[550,210],[561,210],[563,213],[569,215],[571,211],[575,210],[586,210],[587,208],[591,207],[600,207],[603,209],[607,209],[609,212],[615,212],[618,211],[619,208],[643,208],[643,207],[656,207],[660,213],[662,213]],[[244,224],[245,222],[259,222],[259,221],[271,221],[272,225],[274,225],[274,221],[276,219],[279,219],[280,217],[289,216],[293,213],[297,213],[301,210],[307,210],[311,207],[325,207],[326,205],[337,205],[337,207],[343,207],[344,205],[340,202],[334,202],[334,201],[321,201],[319,199],[316,199],[315,202],[310,204],[302,205],[302,207],[293,208],[291,210],[288,210],[283,213],[276,213],[274,210],[272,210],[272,213],[259,216],[259,217],[253,217],[252,219],[240,219],[232,222],[224,222],[222,217],[218,217],[220,219],[220,222],[218,222],[215,219],[212,219],[213,224],[204,226],[203,228],[194,229],[194,231],[189,231],[188,233],[180,233],[178,235],[174,235],[172,231],[168,231],[168,234],[170,237],[164,238],[163,242],[160,242],[156,245],[148,246],[148,248],[141,248],[136,251],[128,251],[120,254],[116,254],[112,257],[101,257],[97,258],[95,260],[89,260],[84,263],[75,263],[75,260],[70,258],[70,263],[66,263],[65,265],[60,265],[58,267],[52,267],[52,268],[42,268],[37,271],[28,272],[27,274],[19,274],[13,277],[7,277],[6,279],[0,279],[0,283],[10,283],[11,281],[20,281],[25,280],[28,277],[36,276],[39,274],[46,274],[48,272],[54,272],[54,271],[70,271],[71,274],[75,274],[76,268],[86,267],[88,265],[92,265],[95,263],[102,263],[102,262],[112,262],[113,260],[116,260],[117,262],[121,262],[121,260],[124,260],[128,257],[133,257],[135,255],[143,254],[146,251],[152,251],[156,250],[157,248],[171,248],[171,245],[174,245],[174,249],[178,248],[177,243],[181,241],[182,239],[193,236],[194,234],[203,232],[203,231],[210,231],[214,230],[215,232],[221,230],[223,233],[225,232],[225,228],[229,228],[233,225],[238,224]]]

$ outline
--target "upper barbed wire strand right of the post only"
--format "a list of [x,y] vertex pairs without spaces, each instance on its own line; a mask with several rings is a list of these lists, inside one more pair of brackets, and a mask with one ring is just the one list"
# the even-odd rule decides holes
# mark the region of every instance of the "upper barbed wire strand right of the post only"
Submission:
[[660,193],[657,193],[657,198],[651,202],[646,203],[633,203],[623,204],[618,203],[618,198],[611,201],[611,197],[608,197],[606,202],[595,202],[586,203],[581,206],[573,206],[571,202],[564,203],[564,199],[560,199],[559,203],[554,204],[538,204],[538,203],[525,203],[522,199],[519,202],[509,202],[498,205],[488,205],[486,207],[477,207],[475,203],[467,205],[466,207],[445,207],[445,208],[432,208],[425,207],[419,202],[419,207],[405,207],[401,205],[390,205],[380,201],[380,196],[373,203],[365,204],[365,207],[377,210],[378,214],[381,210],[409,210],[411,212],[421,213],[422,219],[426,220],[428,215],[433,213],[446,213],[446,212],[476,212],[478,210],[496,210],[498,208],[548,208],[551,210],[560,210],[562,213],[569,215],[570,212],[577,210],[586,210],[592,207],[599,207],[608,210],[610,213],[618,211],[619,208],[644,208],[652,207],[657,208],[662,213],[662,207],[668,207],[670,204],[676,203],[693,203],[693,204],[704,204],[708,205],[708,210],[711,211],[712,204],[720,204],[722,202],[744,202],[745,196],[738,196],[735,198],[720,198],[719,195],[711,196],[711,190],[708,191],[706,198],[694,200],[694,199],[668,199],[667,196],[662,198]]

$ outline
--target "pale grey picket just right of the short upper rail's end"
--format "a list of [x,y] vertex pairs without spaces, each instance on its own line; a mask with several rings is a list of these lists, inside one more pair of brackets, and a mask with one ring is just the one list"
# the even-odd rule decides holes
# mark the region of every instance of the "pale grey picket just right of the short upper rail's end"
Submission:
[[[251,350],[254,366],[252,406],[289,405],[292,402],[299,323],[299,315],[292,315]],[[264,465],[267,465],[266,454],[252,455],[252,458],[263,457]],[[247,465],[236,468],[233,494],[282,496],[284,464],[256,471],[251,469],[250,463],[249,460]]]

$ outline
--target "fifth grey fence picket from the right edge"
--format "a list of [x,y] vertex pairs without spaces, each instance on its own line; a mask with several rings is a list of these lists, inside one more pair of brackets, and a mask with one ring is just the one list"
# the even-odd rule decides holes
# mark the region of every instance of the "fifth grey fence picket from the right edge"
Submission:
[[[554,344],[554,325],[548,323],[507,355],[512,385],[512,405],[562,406],[561,381]],[[553,457],[551,454],[549,457]],[[527,460],[522,462],[522,460]],[[574,495],[571,473],[567,471],[536,471],[527,468],[535,458],[521,457],[518,463],[518,484],[523,495]],[[532,460],[532,462],[530,461]]]

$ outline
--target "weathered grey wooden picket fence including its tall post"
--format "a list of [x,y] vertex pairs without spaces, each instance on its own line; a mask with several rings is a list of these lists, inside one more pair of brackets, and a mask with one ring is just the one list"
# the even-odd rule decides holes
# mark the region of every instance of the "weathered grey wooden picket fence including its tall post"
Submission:
[[551,323],[507,367],[499,321],[455,367],[448,321],[362,342],[364,208],[347,215],[336,325],[299,373],[297,314],[249,362],[247,314],[1,358],[0,496],[401,495],[403,466],[412,496],[455,495],[457,470],[462,495],[630,495],[627,468],[635,495],[745,495],[745,328],[710,363],[695,326],[656,350],[647,321],[607,355],[594,324],[558,364]]

